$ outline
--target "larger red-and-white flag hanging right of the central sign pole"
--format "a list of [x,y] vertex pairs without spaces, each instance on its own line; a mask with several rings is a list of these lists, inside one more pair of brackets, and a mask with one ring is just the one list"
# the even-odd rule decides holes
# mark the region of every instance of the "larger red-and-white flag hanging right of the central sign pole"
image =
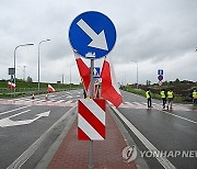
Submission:
[[123,97],[117,87],[114,68],[111,63],[111,57],[105,58],[101,72],[101,97],[111,101],[116,108],[123,103]]

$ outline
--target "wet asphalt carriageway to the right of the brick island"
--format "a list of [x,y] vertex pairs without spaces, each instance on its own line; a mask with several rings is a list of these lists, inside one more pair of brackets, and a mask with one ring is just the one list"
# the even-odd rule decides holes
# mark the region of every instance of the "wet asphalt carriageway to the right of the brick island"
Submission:
[[[147,109],[142,97],[121,91],[124,104],[118,111],[158,149],[166,150],[167,160],[178,169],[197,168],[197,109],[188,104],[174,104],[172,111],[162,111],[161,101],[153,100],[153,108]],[[140,150],[148,151],[146,140],[127,127]],[[144,139],[144,138],[143,138]],[[189,150],[192,151],[189,154]],[[173,154],[179,153],[174,157]],[[171,153],[171,154],[169,154]],[[181,157],[187,153],[190,157]],[[146,161],[152,169],[163,168],[152,156]]]

